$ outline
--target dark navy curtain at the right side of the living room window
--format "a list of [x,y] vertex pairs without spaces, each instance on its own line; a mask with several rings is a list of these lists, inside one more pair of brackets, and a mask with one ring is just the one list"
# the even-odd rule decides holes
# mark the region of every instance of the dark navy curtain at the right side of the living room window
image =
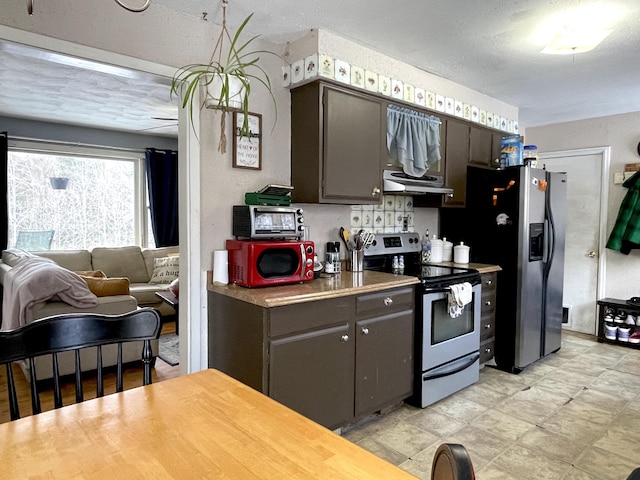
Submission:
[[156,247],[178,245],[178,152],[148,148],[146,166]]

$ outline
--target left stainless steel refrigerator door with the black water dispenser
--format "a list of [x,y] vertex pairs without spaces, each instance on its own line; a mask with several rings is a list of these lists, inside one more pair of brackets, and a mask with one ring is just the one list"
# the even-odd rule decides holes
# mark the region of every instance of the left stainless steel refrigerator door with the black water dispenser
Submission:
[[540,169],[520,168],[520,223],[518,225],[518,301],[515,329],[514,367],[522,369],[541,356],[543,344],[542,258],[532,255],[536,245],[531,237],[544,242],[536,229],[545,220],[546,172]]

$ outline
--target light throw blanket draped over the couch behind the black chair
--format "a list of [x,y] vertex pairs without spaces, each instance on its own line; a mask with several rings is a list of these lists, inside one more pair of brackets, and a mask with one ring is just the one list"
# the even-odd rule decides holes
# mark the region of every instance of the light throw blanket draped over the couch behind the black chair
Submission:
[[84,280],[48,258],[25,258],[4,278],[2,330],[13,330],[32,322],[31,308],[54,295],[76,308],[92,308],[98,304],[98,297],[91,293]]

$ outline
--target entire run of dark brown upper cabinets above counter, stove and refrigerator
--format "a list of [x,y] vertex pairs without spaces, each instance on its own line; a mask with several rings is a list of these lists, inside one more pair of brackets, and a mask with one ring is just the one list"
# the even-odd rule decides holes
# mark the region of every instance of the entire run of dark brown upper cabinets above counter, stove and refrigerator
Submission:
[[428,173],[443,175],[453,196],[416,195],[418,207],[465,206],[467,165],[497,167],[502,132],[463,118],[390,101],[388,97],[314,81],[291,90],[292,200],[380,203],[382,170],[401,169],[389,158],[387,106],[398,104],[440,118],[442,159]]

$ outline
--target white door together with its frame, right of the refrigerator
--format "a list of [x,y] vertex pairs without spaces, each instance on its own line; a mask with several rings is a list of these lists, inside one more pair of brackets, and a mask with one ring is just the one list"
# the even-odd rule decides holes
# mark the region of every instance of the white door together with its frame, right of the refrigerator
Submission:
[[598,298],[604,292],[604,247],[610,147],[540,154],[551,172],[567,172],[567,226],[563,305],[567,330],[597,333]]

